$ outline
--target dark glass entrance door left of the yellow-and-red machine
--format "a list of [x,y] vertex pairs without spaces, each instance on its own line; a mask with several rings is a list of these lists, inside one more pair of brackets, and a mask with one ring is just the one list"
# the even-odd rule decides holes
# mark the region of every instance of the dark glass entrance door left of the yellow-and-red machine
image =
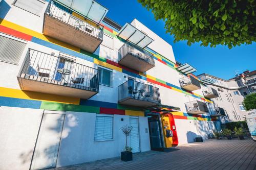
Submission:
[[152,117],[148,117],[148,127],[150,128],[151,150],[162,151],[163,141],[162,132],[160,129],[161,125],[158,115],[152,115]]

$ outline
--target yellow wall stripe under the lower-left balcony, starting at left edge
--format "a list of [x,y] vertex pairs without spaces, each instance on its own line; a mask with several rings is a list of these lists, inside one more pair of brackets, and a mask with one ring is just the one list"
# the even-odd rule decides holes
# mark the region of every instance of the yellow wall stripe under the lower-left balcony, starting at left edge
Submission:
[[0,96],[8,98],[18,98],[18,99],[29,99],[36,101],[48,101],[48,102],[58,102],[66,104],[79,105],[79,98],[72,98],[67,96],[60,96],[54,94],[39,93],[33,91],[24,91],[13,88],[0,87]]

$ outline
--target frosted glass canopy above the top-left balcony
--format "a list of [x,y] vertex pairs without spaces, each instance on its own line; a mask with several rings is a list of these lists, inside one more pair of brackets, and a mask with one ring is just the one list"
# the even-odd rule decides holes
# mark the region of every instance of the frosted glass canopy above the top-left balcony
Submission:
[[97,23],[100,23],[109,11],[93,0],[56,0],[68,8],[78,12]]

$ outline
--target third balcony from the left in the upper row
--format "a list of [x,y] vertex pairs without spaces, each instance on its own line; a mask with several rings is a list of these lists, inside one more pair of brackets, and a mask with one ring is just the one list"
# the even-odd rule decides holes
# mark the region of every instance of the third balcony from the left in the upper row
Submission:
[[194,91],[201,88],[200,82],[192,76],[190,76],[189,78],[183,77],[179,81],[181,88],[188,91]]

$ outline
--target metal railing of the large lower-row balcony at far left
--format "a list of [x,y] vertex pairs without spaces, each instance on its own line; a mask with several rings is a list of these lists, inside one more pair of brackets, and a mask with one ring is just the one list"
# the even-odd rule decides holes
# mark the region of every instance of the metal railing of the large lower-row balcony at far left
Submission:
[[29,49],[19,77],[98,92],[99,75],[98,69]]

